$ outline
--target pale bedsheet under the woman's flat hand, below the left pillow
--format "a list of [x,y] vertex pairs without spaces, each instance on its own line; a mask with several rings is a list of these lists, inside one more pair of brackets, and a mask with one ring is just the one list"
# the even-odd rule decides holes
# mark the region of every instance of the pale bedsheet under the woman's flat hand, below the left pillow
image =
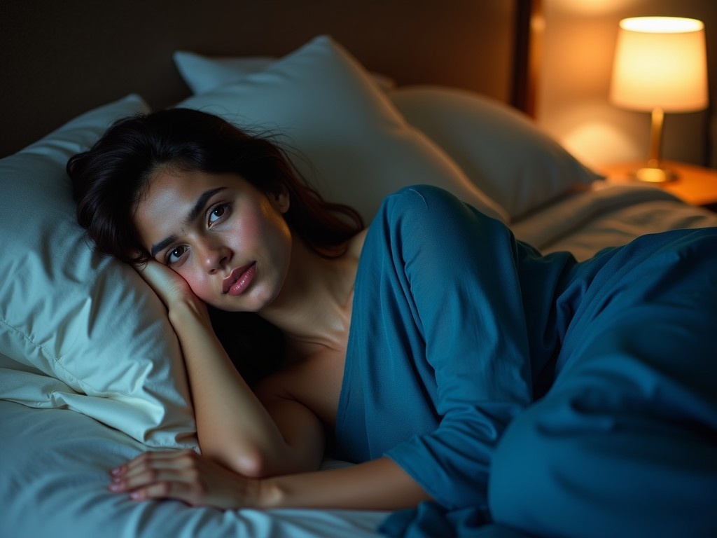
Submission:
[[376,537],[385,513],[193,508],[111,494],[143,445],[85,415],[0,401],[0,537]]

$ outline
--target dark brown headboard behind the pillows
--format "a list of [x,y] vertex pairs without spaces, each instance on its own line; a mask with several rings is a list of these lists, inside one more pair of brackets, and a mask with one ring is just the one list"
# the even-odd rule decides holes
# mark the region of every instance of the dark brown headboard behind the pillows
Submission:
[[[475,90],[531,113],[537,0],[37,0],[0,8],[0,157],[75,115],[139,93],[152,108],[189,89],[176,49],[285,55],[331,34],[398,84]],[[534,25],[533,25],[534,26]],[[531,75],[532,73],[532,75]]]

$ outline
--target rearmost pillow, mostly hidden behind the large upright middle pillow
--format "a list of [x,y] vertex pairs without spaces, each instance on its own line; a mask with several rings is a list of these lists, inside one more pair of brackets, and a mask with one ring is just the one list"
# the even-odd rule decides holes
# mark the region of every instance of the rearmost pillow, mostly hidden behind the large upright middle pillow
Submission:
[[[173,57],[174,65],[191,93],[206,93],[228,82],[238,82],[245,75],[265,70],[277,61],[273,56],[208,57],[187,50],[178,50]],[[371,78],[381,90],[396,86],[396,82],[386,75],[373,72]]]

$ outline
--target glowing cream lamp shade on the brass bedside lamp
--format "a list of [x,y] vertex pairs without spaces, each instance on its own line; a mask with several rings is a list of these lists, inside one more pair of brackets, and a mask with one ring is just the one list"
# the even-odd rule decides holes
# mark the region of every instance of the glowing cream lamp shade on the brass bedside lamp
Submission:
[[690,112],[706,108],[704,24],[667,16],[622,19],[610,100],[632,110]]

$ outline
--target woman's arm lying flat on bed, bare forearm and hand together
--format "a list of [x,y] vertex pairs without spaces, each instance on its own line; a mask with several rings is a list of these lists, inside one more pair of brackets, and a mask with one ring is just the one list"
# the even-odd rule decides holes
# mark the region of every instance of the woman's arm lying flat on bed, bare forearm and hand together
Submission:
[[110,486],[134,500],[179,499],[192,506],[397,510],[430,497],[389,458],[328,471],[252,479],[191,450],[144,453],[113,471]]

